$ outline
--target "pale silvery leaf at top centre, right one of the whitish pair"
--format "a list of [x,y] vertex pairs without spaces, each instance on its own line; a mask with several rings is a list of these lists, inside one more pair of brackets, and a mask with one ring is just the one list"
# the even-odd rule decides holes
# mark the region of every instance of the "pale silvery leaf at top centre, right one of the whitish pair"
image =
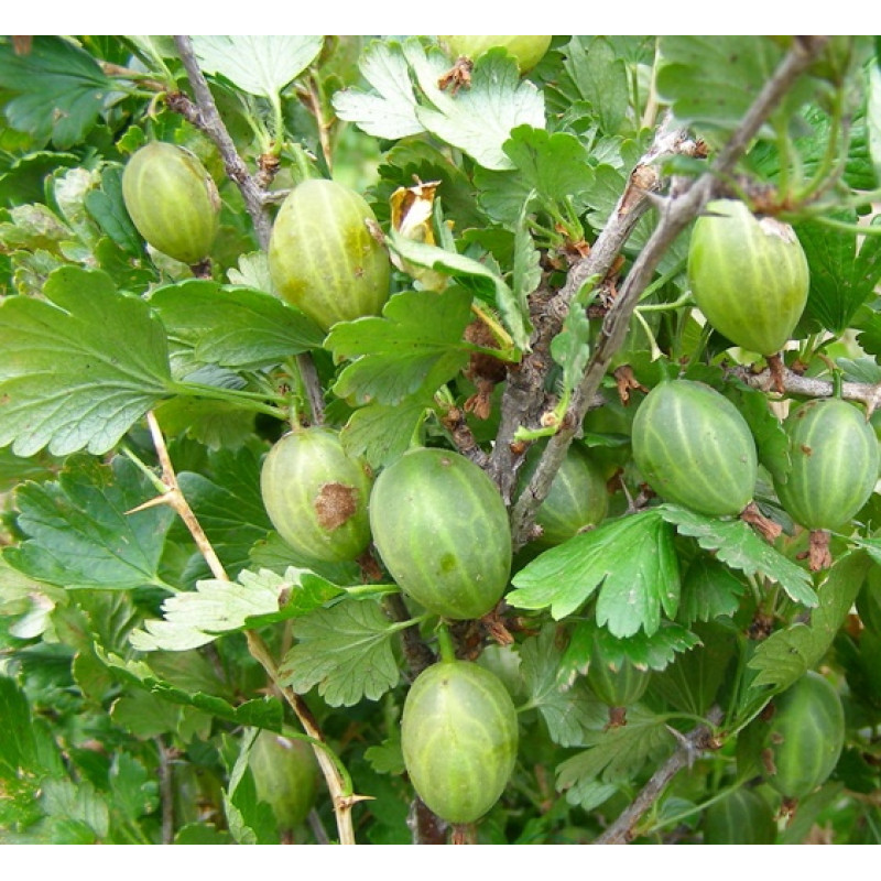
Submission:
[[437,85],[436,59],[411,44],[407,59],[428,105],[416,108],[418,121],[442,141],[457,146],[485,168],[502,171],[512,162],[504,143],[518,126],[544,128],[544,97],[529,79],[521,79],[516,62],[501,48],[481,55],[471,84],[457,93]]

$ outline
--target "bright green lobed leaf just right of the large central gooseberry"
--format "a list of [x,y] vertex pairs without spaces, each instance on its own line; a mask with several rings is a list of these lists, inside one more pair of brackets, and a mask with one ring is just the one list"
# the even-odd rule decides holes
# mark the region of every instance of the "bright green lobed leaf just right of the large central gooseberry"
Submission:
[[[661,611],[673,617],[679,569],[672,530],[657,510],[612,520],[540,554],[514,577],[505,600],[559,620],[599,589],[597,621],[616,637],[654,633]],[[600,589],[601,587],[601,589]]]

